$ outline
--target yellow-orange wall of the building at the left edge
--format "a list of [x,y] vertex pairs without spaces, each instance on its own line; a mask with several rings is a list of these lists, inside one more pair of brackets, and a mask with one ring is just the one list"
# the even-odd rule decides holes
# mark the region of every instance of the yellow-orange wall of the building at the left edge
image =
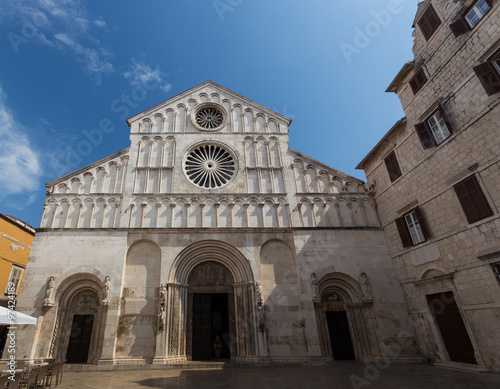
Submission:
[[[12,265],[26,268],[34,238],[34,233],[0,215],[0,305],[2,306],[6,306],[8,301],[6,289]],[[22,277],[19,288],[22,286]]]

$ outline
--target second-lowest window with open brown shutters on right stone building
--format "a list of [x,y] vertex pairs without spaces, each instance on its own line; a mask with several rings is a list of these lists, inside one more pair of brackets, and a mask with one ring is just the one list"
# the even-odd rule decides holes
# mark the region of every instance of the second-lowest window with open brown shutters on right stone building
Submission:
[[427,119],[415,124],[420,143],[425,149],[437,146],[452,134],[452,127],[440,105]]

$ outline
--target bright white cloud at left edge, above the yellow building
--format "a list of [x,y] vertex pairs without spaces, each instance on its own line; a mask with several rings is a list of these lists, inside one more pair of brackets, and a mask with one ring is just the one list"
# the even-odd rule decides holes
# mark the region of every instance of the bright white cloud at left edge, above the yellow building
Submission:
[[5,99],[0,87],[0,197],[39,190],[42,176],[39,155]]

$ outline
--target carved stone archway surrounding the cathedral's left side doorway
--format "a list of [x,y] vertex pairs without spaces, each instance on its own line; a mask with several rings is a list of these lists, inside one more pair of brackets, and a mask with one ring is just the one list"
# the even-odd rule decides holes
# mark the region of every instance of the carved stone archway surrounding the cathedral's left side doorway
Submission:
[[107,306],[102,304],[102,282],[93,274],[77,274],[64,280],[56,295],[57,315],[49,356],[66,359],[75,315],[93,316],[87,363],[97,363],[102,353]]

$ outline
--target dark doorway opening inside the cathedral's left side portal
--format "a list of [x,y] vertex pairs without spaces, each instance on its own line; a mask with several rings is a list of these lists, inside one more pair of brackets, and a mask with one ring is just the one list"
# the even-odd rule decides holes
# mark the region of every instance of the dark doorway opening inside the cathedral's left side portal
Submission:
[[68,363],[87,363],[94,315],[74,315],[69,336],[66,360]]

